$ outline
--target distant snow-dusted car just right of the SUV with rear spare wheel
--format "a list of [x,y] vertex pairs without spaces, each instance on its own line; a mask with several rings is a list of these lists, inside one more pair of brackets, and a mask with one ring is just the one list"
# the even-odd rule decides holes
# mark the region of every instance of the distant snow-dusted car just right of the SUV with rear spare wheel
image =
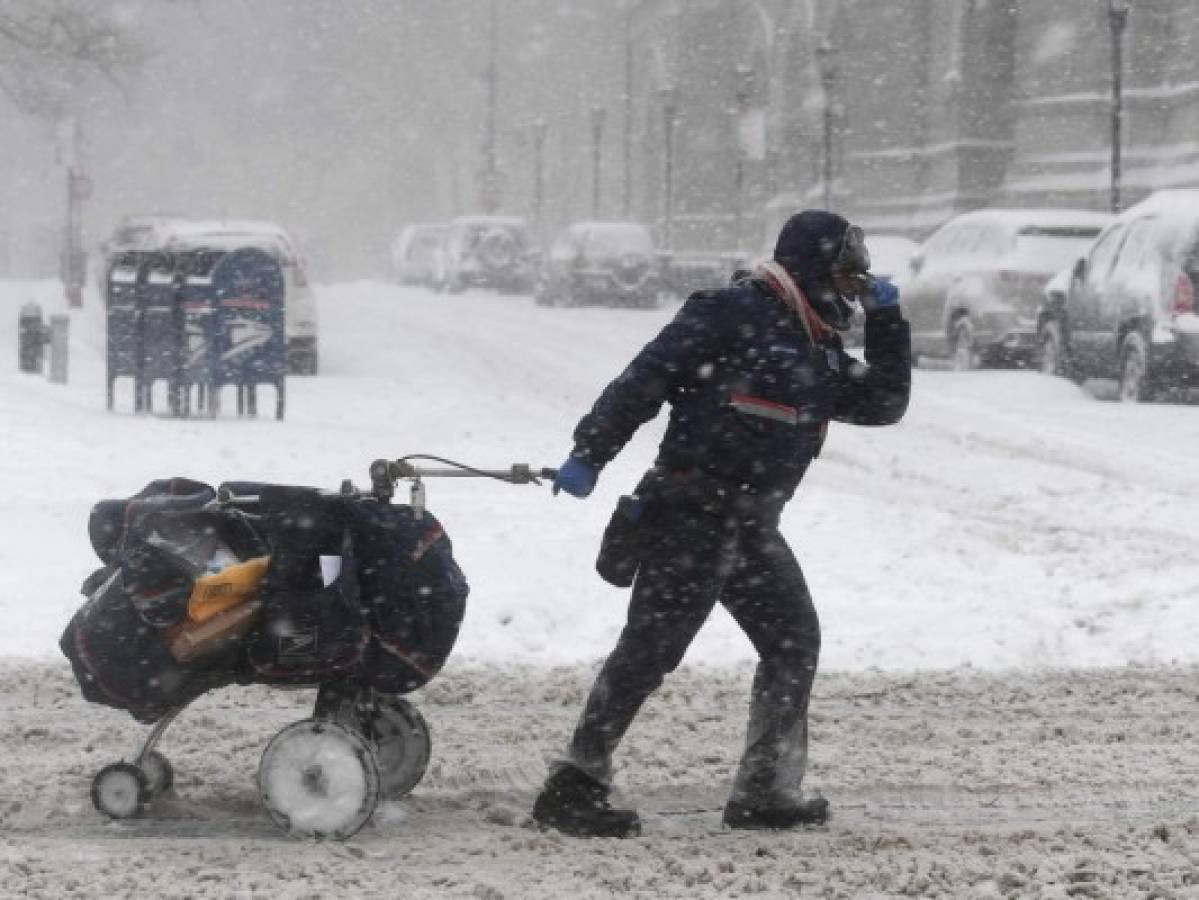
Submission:
[[653,307],[659,278],[653,238],[638,222],[576,222],[550,244],[541,267],[541,306]]

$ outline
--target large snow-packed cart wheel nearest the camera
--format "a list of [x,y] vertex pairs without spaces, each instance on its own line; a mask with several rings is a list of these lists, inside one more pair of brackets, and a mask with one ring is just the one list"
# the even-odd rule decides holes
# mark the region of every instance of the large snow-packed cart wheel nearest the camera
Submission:
[[345,840],[379,803],[379,763],[353,729],[305,719],[266,745],[258,790],[271,819],[293,838]]

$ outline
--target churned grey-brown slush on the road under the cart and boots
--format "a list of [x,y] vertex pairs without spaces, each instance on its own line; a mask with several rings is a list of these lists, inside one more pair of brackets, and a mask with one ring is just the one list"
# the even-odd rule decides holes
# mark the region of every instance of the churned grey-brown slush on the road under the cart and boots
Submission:
[[[86,785],[134,729],[68,672],[0,664],[0,893],[29,898],[940,898],[1182,900],[1199,893],[1199,670],[826,675],[808,783],[827,827],[719,827],[748,666],[689,668],[629,731],[635,840],[529,827],[543,755],[591,672],[451,664],[421,691],[433,762],[345,844],[284,838],[254,790],[312,691],[231,688],[168,732],[174,793],[104,822]],[[1098,714],[1097,714],[1097,711]]]

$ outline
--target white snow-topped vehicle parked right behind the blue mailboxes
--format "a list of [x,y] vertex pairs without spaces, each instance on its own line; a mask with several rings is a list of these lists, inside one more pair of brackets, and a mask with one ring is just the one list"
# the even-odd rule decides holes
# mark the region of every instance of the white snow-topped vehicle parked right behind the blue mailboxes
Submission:
[[283,268],[287,289],[285,328],[288,372],[315,375],[318,369],[317,297],[308,283],[303,258],[291,237],[272,222],[203,222],[173,219],[156,226],[156,246],[141,249],[236,249],[260,247],[272,253]]

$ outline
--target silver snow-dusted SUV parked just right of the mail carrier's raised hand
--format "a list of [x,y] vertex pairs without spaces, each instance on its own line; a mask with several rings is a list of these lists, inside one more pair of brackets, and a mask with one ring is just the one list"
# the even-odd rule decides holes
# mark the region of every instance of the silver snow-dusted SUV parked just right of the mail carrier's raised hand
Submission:
[[950,219],[902,279],[912,350],[957,369],[1031,362],[1049,277],[1111,217],[1080,210],[977,210]]

